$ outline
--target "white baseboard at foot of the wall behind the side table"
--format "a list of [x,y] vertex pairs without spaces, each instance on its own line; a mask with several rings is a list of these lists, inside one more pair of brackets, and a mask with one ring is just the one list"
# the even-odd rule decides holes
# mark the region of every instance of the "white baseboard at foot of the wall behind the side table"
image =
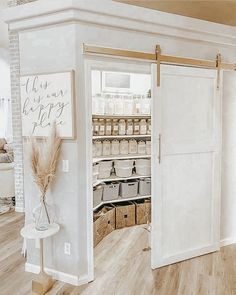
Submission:
[[[38,265],[25,263],[25,271],[38,274],[40,271],[40,268]],[[84,285],[90,281],[87,275],[79,277],[79,276],[70,275],[70,274],[60,272],[50,268],[45,268],[45,271],[48,274],[52,275],[54,279],[67,284],[74,285],[74,286]]]

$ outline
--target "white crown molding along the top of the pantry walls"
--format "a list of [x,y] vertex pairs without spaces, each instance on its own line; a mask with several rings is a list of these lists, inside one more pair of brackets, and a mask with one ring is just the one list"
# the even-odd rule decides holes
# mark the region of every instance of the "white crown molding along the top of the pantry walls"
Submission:
[[111,0],[38,0],[2,11],[10,31],[90,23],[156,36],[236,47],[236,28]]

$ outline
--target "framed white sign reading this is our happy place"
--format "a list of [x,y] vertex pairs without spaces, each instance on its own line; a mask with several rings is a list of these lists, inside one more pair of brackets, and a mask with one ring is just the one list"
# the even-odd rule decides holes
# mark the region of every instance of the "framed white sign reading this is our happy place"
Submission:
[[22,135],[46,137],[54,122],[60,137],[73,139],[74,72],[21,76]]

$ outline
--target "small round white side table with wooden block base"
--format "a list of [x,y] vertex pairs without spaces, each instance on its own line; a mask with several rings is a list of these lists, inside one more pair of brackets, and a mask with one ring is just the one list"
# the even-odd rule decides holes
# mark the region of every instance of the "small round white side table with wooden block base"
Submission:
[[35,224],[31,223],[23,227],[20,232],[25,239],[40,241],[40,273],[38,278],[32,281],[32,291],[40,295],[44,295],[54,284],[52,277],[44,271],[43,239],[55,235],[59,230],[60,226],[57,223],[50,225],[49,229],[44,231],[36,230]]

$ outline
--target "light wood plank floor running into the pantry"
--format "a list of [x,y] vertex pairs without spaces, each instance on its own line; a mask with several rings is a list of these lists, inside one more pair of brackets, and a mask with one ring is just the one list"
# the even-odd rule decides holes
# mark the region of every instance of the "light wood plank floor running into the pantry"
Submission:
[[[34,275],[24,272],[23,214],[0,216],[0,295],[31,293]],[[115,231],[95,249],[94,282],[74,287],[57,282],[48,295],[234,295],[236,245],[159,270],[150,269],[145,226]]]

